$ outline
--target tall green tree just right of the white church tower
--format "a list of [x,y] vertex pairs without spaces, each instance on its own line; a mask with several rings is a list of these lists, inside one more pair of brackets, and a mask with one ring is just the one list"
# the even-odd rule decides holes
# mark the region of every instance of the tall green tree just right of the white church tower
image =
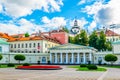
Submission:
[[79,44],[87,46],[88,45],[88,36],[85,30],[81,30],[81,33],[79,35]]

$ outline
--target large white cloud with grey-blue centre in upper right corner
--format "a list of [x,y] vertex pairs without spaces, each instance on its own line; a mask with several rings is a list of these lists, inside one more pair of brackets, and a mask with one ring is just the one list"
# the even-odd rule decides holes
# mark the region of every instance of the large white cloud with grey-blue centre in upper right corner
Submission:
[[[120,0],[110,0],[103,4],[102,1],[86,6],[83,12],[93,15],[96,24],[108,26],[110,24],[120,24]],[[92,23],[91,23],[92,24]],[[90,25],[91,26],[91,25]]]

